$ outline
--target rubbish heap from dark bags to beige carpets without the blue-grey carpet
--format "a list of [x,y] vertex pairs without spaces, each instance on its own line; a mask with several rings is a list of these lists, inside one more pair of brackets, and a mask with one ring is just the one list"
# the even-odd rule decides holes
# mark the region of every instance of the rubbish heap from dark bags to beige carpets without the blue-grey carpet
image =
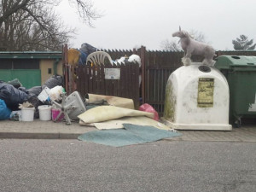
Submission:
[[[148,125],[150,123],[147,122],[150,121],[160,127],[158,113],[148,104],[143,104],[139,110],[135,110],[131,99],[118,96],[87,94],[82,98],[78,91],[67,96],[62,84],[61,76],[52,76],[42,86],[28,90],[22,87],[19,79],[10,82],[2,81],[0,83],[0,119],[20,121],[52,119],[66,121],[67,125],[77,121],[80,125],[96,125],[99,128],[102,127],[99,122],[106,123],[109,120],[122,119],[127,123],[129,119],[137,117],[139,119],[137,123],[140,125],[142,122],[143,125]],[[44,118],[46,112],[49,112],[48,118]],[[122,126],[118,123],[115,127]],[[165,126],[162,125],[162,127]]]

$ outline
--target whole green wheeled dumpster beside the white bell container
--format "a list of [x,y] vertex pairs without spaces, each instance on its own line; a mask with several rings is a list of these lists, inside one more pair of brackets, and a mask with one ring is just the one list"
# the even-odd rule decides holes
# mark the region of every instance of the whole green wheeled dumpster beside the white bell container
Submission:
[[256,56],[221,55],[215,67],[230,86],[230,124],[241,126],[241,119],[256,118]]

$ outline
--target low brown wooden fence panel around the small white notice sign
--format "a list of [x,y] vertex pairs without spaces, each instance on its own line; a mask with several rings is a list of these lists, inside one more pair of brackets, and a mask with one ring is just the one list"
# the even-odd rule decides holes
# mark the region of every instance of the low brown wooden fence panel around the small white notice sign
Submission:
[[[105,79],[108,68],[119,68],[120,79]],[[135,108],[139,107],[139,67],[137,63],[118,65],[79,66],[77,73],[77,90],[82,96],[93,93],[105,96],[131,98]]]

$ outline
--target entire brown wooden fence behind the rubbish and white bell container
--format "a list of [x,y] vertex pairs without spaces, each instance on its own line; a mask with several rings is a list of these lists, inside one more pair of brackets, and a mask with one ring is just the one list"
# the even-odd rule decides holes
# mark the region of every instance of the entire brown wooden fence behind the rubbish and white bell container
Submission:
[[[104,79],[103,66],[97,68],[90,66],[84,66],[84,68],[79,67],[77,90],[82,95],[95,93],[132,98],[137,106],[139,105],[138,98],[140,97],[142,103],[152,105],[162,115],[164,112],[166,82],[173,71],[183,66],[181,62],[183,51],[151,51],[146,50],[143,46],[140,49],[133,50],[105,49],[104,51],[108,52],[113,60],[119,59],[124,55],[130,56],[132,54],[137,54],[141,57],[142,67],[140,72],[142,75],[142,84],[140,90],[134,86],[134,84],[138,84],[139,69],[137,65],[118,65],[117,67],[120,68],[121,73],[121,79],[119,80]],[[256,51],[216,51],[216,57],[218,55],[256,55]],[[192,57],[192,61],[202,61],[202,58],[194,56]],[[67,83],[68,81],[66,81]]]

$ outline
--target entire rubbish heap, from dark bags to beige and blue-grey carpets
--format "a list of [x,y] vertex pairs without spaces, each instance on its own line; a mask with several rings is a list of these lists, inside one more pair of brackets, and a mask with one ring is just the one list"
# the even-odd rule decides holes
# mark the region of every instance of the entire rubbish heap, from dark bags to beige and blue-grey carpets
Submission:
[[[115,147],[156,141],[160,136],[164,138],[180,135],[160,123],[158,113],[147,103],[136,110],[133,100],[128,98],[95,94],[87,94],[83,98],[78,91],[67,96],[62,84],[61,76],[53,76],[42,86],[28,90],[22,87],[18,79],[11,82],[2,81],[0,83],[0,119],[21,123],[39,119],[66,125],[79,123],[81,126],[95,126],[100,132],[84,133],[79,140]],[[127,131],[130,125],[133,127]],[[141,132],[142,136],[139,136],[138,133],[131,132],[135,129],[146,132],[157,129],[171,131],[172,134],[157,132],[153,137],[152,134]],[[98,137],[102,138],[102,134],[107,134],[108,137],[98,140]],[[119,134],[122,135],[122,139],[115,143],[113,137],[118,139]]]

